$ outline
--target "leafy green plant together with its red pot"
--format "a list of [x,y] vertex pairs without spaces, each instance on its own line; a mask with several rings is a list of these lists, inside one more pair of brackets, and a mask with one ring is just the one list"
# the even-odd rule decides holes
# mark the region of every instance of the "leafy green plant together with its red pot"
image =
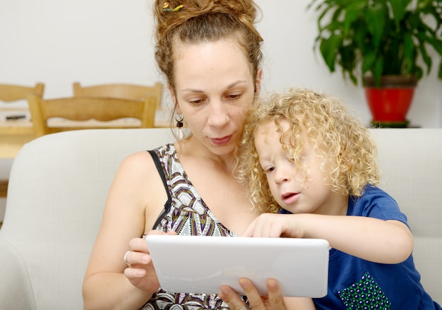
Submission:
[[[442,56],[442,1],[313,0],[312,6],[319,12],[314,47],[330,72],[340,66],[354,85],[362,81],[372,123],[407,126],[414,87],[433,63],[427,48]],[[397,99],[404,107],[396,107]]]

